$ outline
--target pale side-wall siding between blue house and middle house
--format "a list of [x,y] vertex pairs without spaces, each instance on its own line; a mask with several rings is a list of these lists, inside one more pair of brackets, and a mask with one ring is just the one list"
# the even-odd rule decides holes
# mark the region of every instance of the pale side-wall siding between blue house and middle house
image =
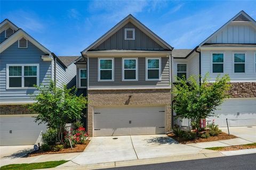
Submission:
[[66,84],[68,88],[76,86],[76,65],[72,63],[68,68],[65,68],[57,61],[56,79],[57,87],[62,87],[63,84]]

